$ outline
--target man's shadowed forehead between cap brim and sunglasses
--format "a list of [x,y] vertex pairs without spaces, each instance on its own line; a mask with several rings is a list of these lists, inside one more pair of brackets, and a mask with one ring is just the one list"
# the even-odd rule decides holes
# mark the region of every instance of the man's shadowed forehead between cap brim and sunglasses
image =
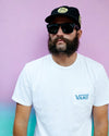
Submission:
[[73,23],[73,21],[65,16],[57,16],[51,23]]

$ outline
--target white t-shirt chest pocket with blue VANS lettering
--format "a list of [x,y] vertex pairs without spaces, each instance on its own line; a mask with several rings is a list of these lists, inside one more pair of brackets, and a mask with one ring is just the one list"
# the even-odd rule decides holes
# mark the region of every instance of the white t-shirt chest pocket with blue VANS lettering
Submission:
[[75,121],[85,121],[92,116],[94,94],[92,89],[74,89],[72,92],[72,111],[75,116]]

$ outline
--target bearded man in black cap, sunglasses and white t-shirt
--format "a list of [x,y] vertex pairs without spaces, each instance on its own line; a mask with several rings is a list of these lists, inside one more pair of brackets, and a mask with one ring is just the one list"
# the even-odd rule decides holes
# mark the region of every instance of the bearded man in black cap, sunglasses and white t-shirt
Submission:
[[109,79],[98,62],[77,53],[82,35],[76,8],[60,7],[46,18],[50,54],[23,69],[12,99],[13,135],[26,136],[32,106],[35,136],[108,136]]

